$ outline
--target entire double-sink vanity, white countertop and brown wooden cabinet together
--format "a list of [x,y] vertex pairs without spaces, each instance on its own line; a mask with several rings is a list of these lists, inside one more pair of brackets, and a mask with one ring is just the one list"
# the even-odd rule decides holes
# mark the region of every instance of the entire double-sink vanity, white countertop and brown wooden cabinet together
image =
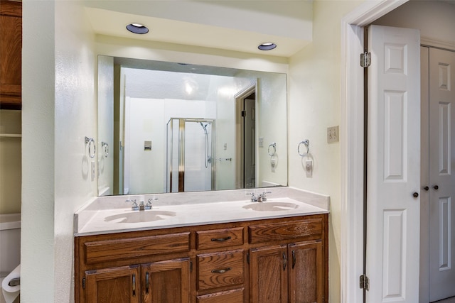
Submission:
[[88,206],[75,217],[75,302],[328,302],[326,201]]

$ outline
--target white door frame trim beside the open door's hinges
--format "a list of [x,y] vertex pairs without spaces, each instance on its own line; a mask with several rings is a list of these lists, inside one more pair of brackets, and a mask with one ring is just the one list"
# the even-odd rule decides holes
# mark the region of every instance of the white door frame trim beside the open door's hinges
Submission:
[[341,20],[341,302],[363,302],[363,28],[407,0],[366,1]]

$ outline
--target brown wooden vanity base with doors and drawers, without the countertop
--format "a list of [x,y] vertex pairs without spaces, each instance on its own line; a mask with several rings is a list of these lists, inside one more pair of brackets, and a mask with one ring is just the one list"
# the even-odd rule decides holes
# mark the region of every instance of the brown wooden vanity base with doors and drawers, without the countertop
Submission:
[[75,302],[328,302],[327,219],[75,237]]

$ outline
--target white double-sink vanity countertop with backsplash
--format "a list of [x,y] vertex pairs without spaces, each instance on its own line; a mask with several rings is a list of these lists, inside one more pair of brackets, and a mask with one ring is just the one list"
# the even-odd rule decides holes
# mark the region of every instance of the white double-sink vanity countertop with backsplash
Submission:
[[133,196],[99,197],[75,213],[75,236],[328,213],[327,196],[289,187],[267,191],[273,198],[271,194],[262,203],[245,199],[245,189],[218,192],[218,199],[217,192],[182,193],[178,202],[166,201],[174,198],[169,194],[139,195],[138,204],[149,196],[159,197],[153,209],[144,211],[132,211],[131,204],[125,203]]

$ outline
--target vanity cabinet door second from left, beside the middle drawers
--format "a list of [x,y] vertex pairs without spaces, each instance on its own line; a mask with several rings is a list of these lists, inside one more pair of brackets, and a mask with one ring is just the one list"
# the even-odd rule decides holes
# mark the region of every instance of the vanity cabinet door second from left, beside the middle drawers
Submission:
[[190,259],[176,259],[141,265],[142,302],[189,303]]

